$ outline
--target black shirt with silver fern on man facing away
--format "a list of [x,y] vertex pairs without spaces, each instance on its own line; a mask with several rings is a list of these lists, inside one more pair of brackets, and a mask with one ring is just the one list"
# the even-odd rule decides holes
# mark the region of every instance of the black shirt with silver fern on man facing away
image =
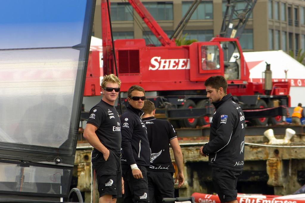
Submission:
[[174,127],[170,122],[155,117],[144,118],[143,122],[151,149],[150,167],[147,170],[174,173],[169,148],[170,140],[177,137]]

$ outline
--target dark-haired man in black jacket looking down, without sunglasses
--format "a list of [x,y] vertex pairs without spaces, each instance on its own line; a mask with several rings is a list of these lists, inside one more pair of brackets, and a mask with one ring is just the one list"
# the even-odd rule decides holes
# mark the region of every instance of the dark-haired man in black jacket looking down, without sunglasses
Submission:
[[237,177],[244,166],[245,116],[238,104],[227,95],[227,81],[222,76],[208,78],[207,98],[216,112],[210,125],[210,141],[200,148],[200,155],[209,156],[212,180],[223,202],[238,203]]

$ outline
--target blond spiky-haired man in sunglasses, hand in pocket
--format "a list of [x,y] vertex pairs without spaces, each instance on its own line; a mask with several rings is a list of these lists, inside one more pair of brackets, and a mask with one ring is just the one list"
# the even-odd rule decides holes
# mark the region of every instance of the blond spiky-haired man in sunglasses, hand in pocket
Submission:
[[99,203],[116,202],[122,196],[121,122],[114,107],[120,85],[114,74],[103,77],[102,100],[91,108],[84,130],[84,138],[94,147],[91,162],[98,181]]

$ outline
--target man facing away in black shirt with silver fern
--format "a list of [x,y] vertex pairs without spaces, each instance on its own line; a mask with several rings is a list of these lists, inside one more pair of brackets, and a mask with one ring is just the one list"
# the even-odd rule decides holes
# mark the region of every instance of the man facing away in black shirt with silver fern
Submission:
[[[166,120],[155,119],[154,103],[145,100],[142,111],[151,149],[150,166],[147,169],[149,199],[151,203],[158,203],[162,202],[162,198],[174,198],[174,183],[178,181],[178,188],[183,184],[183,157],[174,127]],[[175,181],[169,144],[178,167]]]

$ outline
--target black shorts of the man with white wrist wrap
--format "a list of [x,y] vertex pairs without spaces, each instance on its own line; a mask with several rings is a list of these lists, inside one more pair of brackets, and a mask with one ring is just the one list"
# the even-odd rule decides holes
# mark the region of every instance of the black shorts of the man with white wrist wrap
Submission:
[[124,203],[149,202],[147,169],[144,166],[138,167],[143,178],[135,179],[131,167],[129,165],[123,167]]

